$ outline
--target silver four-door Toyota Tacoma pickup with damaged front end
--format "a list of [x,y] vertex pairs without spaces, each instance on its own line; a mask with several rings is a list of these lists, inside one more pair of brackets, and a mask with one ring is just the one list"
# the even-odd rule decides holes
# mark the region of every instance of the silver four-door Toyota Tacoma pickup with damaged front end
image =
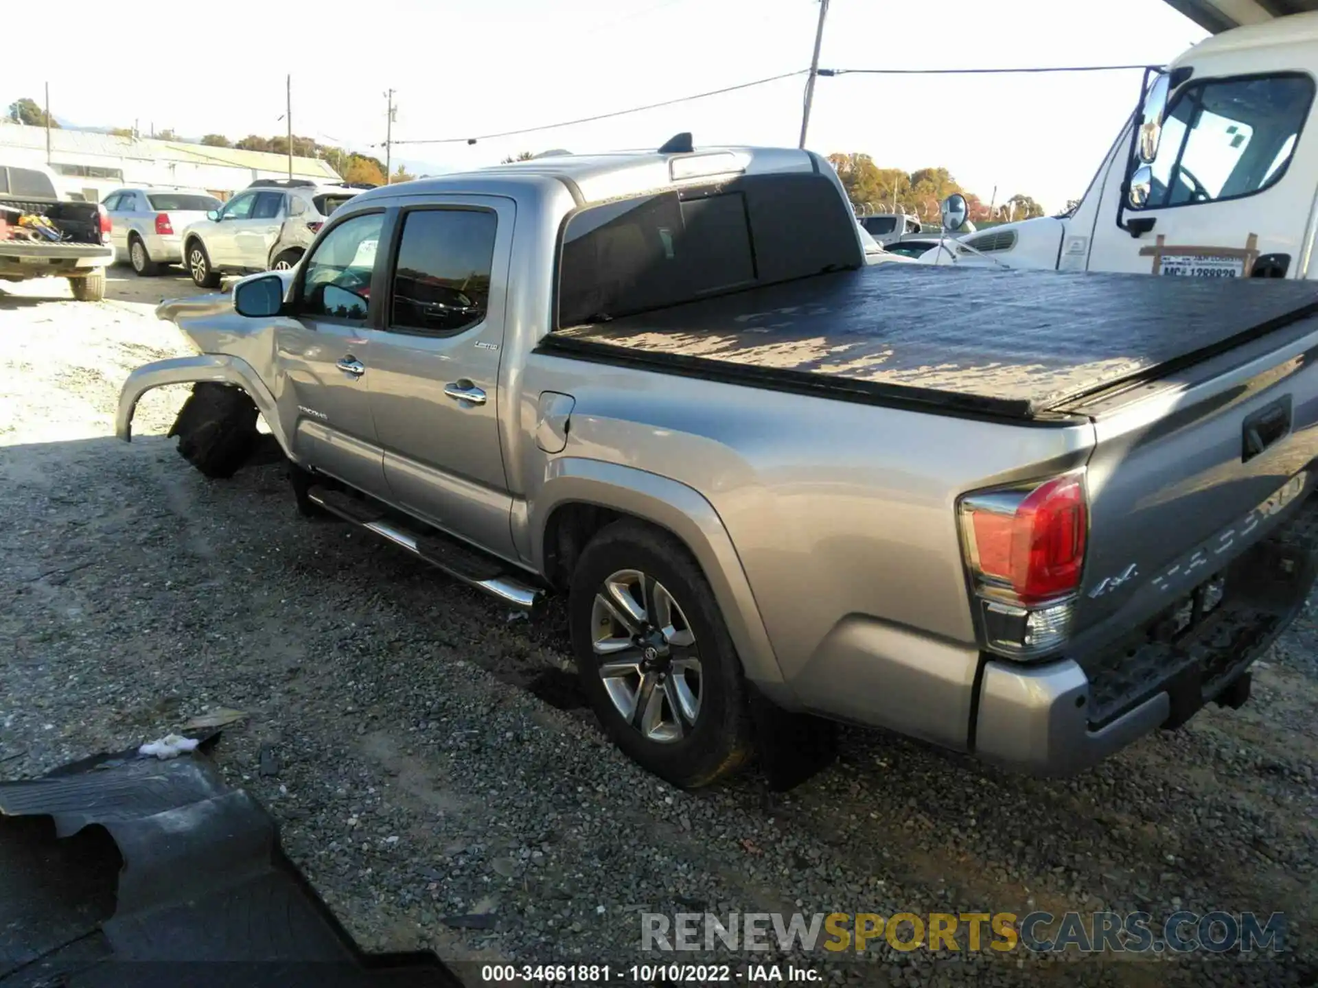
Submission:
[[1318,288],[866,266],[828,162],[550,157],[364,192],[291,271],[165,303],[170,435],[265,419],[303,512],[565,593],[596,713],[710,782],[749,710],[1036,773],[1203,703],[1314,580]]

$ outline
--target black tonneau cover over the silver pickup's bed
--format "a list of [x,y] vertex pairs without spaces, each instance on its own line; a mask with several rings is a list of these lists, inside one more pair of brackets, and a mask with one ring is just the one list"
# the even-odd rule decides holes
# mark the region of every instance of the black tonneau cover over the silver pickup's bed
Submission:
[[1318,283],[882,263],[558,329],[542,348],[1033,418],[1318,312]]

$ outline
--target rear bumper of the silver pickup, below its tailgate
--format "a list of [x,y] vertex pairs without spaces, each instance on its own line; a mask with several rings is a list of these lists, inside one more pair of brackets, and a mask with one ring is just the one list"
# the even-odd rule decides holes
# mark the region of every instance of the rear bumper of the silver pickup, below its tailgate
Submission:
[[1309,498],[1231,564],[1220,602],[1206,615],[1197,611],[1197,623],[1176,638],[1160,634],[1173,606],[1079,661],[986,661],[975,754],[1035,775],[1066,775],[1157,727],[1180,726],[1207,702],[1239,705],[1249,665],[1290,624],[1314,585],[1315,536],[1318,499]]

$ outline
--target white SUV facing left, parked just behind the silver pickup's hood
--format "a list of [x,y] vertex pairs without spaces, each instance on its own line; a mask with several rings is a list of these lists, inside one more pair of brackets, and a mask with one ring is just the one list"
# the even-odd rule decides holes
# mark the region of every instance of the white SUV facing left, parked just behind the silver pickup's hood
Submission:
[[257,179],[183,231],[187,271],[199,287],[216,288],[225,274],[293,267],[333,211],[369,187]]

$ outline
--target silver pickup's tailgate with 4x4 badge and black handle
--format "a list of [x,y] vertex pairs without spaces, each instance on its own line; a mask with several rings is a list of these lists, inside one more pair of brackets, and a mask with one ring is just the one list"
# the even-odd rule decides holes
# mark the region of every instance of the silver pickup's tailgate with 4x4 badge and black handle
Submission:
[[1314,489],[1318,317],[1068,411],[1089,415],[1097,439],[1074,628],[1111,640],[1155,622],[1180,635],[1240,582],[1228,566]]

